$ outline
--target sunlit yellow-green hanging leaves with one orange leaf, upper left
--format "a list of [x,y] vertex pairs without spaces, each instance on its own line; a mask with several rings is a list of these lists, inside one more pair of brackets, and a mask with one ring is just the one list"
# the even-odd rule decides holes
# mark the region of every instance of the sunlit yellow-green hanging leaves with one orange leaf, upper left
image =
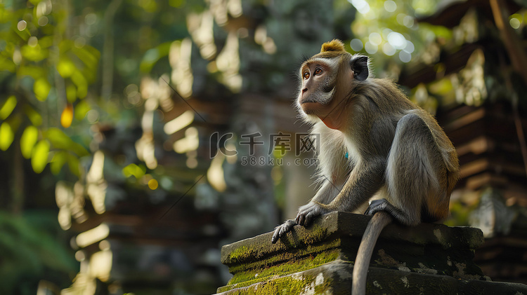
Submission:
[[34,172],[51,163],[58,174],[67,163],[79,176],[79,158],[89,151],[74,130],[90,109],[84,99],[96,80],[100,53],[67,38],[70,15],[61,2],[4,3],[0,15],[0,149],[16,141]]

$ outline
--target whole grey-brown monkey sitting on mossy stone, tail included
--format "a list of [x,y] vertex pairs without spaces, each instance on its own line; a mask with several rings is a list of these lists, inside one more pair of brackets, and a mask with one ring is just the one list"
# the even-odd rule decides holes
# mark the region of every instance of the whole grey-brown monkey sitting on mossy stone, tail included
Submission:
[[319,188],[296,219],[275,228],[271,242],[328,212],[372,215],[353,266],[352,294],[365,294],[384,226],[447,217],[460,175],[457,153],[431,114],[390,79],[370,77],[369,58],[348,53],[338,39],[301,64],[299,79],[297,109],[319,136]]

